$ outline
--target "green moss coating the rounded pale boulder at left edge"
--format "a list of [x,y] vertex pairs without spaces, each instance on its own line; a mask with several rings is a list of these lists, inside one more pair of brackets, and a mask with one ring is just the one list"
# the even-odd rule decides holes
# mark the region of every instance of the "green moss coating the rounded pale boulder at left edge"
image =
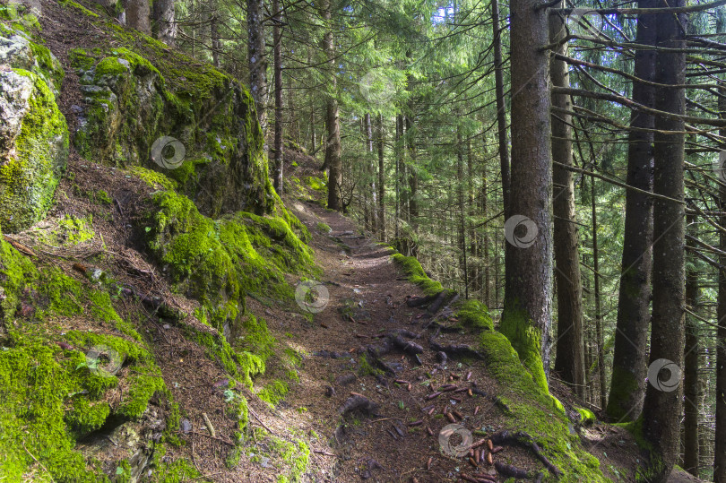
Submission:
[[33,92],[14,155],[0,167],[0,226],[6,231],[27,229],[46,214],[68,155],[68,126],[48,84],[34,73],[13,73],[30,79]]

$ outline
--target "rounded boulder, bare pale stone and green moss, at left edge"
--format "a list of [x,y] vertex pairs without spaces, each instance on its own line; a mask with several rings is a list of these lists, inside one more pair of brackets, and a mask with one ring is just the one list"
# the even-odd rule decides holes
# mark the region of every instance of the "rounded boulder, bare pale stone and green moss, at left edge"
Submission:
[[53,200],[68,157],[68,128],[39,75],[0,72],[0,226],[27,229]]

